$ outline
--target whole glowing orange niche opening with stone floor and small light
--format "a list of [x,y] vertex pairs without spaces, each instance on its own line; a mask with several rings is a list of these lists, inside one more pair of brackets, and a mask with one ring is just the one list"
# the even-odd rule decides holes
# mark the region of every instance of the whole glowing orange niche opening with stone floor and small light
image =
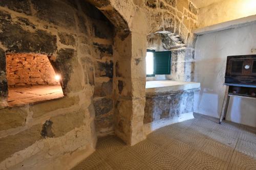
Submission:
[[6,72],[10,107],[63,97],[61,77],[47,55],[6,54]]

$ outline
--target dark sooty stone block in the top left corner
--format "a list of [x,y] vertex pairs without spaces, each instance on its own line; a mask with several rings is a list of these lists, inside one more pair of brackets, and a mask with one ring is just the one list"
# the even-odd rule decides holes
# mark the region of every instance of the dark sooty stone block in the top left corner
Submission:
[[9,0],[1,0],[0,6],[7,7],[13,11],[25,13],[27,15],[31,15],[30,3],[29,0],[23,1],[9,1]]

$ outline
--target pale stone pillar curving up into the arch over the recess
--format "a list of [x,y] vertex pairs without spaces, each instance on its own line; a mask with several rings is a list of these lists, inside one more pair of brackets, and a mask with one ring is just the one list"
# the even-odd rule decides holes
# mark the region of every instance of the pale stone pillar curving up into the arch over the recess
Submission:
[[[134,23],[137,23],[137,20],[131,22],[131,18],[135,18],[133,13],[136,9],[132,8],[135,6],[130,1],[117,3],[89,0],[89,2],[95,5],[115,26],[113,45],[114,131],[127,144],[133,145],[145,137],[142,117],[145,103],[145,91],[143,91],[145,74],[143,72],[146,49],[143,44],[146,43],[146,28],[137,29],[138,26]],[[127,15],[127,10],[126,12],[123,10],[127,6],[131,6],[130,15]],[[140,12],[136,11],[136,14]],[[142,35],[138,34],[141,30],[143,30]],[[137,72],[142,74],[138,75]],[[104,102],[108,104],[108,101]]]

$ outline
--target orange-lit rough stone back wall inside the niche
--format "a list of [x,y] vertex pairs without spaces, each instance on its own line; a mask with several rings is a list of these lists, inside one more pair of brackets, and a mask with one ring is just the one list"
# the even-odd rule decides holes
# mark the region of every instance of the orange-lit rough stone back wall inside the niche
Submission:
[[6,65],[9,87],[58,84],[46,55],[7,54]]

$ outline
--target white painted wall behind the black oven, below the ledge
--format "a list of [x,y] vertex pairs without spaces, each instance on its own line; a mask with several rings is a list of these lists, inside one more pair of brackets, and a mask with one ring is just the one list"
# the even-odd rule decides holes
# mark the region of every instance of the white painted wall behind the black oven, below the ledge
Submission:
[[[251,48],[256,48],[256,24],[198,37],[195,82],[201,83],[201,91],[195,92],[195,112],[219,117],[225,91],[226,58],[252,54]],[[256,99],[236,97],[229,104],[228,120],[256,127]]]

